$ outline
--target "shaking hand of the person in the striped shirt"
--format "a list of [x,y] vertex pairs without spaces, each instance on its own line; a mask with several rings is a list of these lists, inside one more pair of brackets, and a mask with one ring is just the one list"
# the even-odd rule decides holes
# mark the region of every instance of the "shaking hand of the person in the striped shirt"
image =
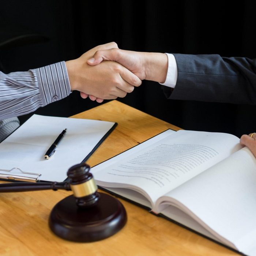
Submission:
[[66,61],[71,90],[82,92],[83,98],[86,98],[86,95],[94,95],[102,101],[125,97],[133,91],[134,86],[140,86],[141,80],[118,63],[108,61],[95,67],[86,63],[97,50],[114,47],[117,47],[114,42],[99,45],[78,59]]

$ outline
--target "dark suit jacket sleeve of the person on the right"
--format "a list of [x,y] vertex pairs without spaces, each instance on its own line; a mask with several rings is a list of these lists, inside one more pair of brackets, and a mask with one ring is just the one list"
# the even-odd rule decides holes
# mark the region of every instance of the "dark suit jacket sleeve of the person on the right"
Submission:
[[178,68],[174,90],[163,86],[167,98],[256,104],[256,59],[218,54],[173,54]]

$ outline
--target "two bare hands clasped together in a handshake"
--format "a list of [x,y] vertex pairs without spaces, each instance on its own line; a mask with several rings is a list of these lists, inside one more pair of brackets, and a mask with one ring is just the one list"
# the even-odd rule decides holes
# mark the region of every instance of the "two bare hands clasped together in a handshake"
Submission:
[[143,79],[164,83],[168,68],[164,53],[121,50],[115,42],[96,46],[65,63],[71,90],[99,103],[125,97]]

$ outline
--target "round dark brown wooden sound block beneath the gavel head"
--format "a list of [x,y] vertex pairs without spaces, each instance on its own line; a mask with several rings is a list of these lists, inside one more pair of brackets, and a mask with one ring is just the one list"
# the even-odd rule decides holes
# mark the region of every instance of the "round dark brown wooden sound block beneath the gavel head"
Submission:
[[99,194],[97,205],[91,208],[78,207],[74,196],[57,203],[49,217],[53,233],[70,241],[93,242],[122,229],[127,221],[123,204],[110,195]]

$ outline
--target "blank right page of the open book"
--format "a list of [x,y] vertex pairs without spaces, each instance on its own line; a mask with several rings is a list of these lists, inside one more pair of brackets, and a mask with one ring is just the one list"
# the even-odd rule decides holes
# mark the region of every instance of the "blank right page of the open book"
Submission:
[[252,255],[256,249],[256,158],[247,147],[167,193],[158,203],[166,206],[168,201],[178,202],[178,208],[239,251]]

